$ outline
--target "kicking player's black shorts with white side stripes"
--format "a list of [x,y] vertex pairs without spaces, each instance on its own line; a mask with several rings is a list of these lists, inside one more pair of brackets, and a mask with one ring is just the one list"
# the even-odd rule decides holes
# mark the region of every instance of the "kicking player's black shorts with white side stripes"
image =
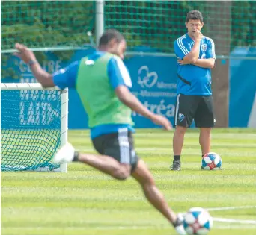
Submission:
[[138,163],[138,156],[134,150],[132,132],[121,128],[118,132],[103,134],[92,140],[94,148],[102,155],[108,155],[119,163],[129,164],[132,171]]

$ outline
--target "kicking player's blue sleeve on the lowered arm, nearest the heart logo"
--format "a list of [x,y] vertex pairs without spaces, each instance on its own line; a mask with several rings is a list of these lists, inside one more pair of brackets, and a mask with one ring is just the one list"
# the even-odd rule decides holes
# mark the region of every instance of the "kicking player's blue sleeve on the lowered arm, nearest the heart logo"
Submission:
[[118,66],[118,62],[117,60],[115,60],[115,58],[112,58],[109,60],[108,75],[109,75],[110,84],[112,85],[114,90],[120,85],[125,85],[123,75]]

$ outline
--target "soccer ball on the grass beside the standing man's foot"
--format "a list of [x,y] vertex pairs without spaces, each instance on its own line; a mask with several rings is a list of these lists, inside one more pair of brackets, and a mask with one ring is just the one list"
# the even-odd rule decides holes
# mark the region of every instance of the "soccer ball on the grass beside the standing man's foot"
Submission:
[[222,166],[222,158],[216,153],[204,154],[202,158],[202,167],[204,170],[218,170]]

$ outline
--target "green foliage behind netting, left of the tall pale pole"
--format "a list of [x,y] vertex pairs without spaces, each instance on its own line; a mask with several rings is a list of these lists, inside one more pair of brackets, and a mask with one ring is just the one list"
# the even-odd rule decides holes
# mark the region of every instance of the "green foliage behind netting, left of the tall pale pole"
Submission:
[[[94,30],[94,1],[1,1],[1,50],[16,42],[29,48],[82,46]],[[54,51],[67,60],[73,51]],[[10,54],[1,54],[1,67]],[[44,53],[37,53],[41,61]],[[1,77],[19,78],[13,69],[1,69]]]

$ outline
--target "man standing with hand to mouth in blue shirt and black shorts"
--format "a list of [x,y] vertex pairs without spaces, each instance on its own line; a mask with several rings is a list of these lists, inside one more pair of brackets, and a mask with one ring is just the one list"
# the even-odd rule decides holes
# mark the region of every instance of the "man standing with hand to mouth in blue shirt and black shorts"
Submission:
[[174,42],[177,55],[177,104],[173,139],[174,161],[171,170],[179,171],[180,155],[186,129],[193,119],[200,128],[202,156],[210,152],[210,131],[214,125],[211,72],[215,63],[213,40],[201,33],[204,26],[200,11],[186,15],[188,32]]

